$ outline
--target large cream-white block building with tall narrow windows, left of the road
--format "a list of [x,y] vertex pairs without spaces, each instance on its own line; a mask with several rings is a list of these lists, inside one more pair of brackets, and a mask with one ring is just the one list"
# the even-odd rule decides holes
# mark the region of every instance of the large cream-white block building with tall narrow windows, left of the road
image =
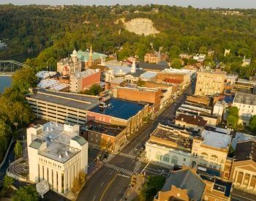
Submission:
[[48,181],[50,188],[64,194],[80,171],[87,173],[88,142],[79,136],[79,126],[50,121],[27,129],[29,180]]

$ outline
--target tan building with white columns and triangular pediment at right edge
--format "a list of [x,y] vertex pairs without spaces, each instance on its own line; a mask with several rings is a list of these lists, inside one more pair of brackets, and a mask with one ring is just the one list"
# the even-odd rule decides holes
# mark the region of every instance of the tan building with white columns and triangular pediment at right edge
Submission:
[[236,144],[235,157],[230,171],[233,187],[256,194],[256,141]]

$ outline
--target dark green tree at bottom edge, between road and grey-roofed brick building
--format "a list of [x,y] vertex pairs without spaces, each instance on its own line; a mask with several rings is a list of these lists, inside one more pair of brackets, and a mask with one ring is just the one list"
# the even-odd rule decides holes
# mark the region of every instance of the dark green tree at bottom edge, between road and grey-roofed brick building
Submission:
[[140,200],[152,200],[154,195],[162,189],[164,183],[165,177],[163,176],[148,176],[146,183],[144,183],[140,191]]

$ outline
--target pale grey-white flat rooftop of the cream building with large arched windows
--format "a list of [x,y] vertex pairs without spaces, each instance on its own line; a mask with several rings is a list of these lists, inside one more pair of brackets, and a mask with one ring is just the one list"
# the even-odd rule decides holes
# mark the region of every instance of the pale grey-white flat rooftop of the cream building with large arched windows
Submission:
[[231,142],[231,136],[221,132],[204,130],[202,132],[203,145],[209,145],[215,148],[227,148]]

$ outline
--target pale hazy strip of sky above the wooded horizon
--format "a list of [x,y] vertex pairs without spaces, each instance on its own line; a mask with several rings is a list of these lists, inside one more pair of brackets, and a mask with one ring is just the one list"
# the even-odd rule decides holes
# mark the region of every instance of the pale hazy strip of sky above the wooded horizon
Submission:
[[83,4],[83,5],[112,5],[112,4],[168,4],[187,7],[225,7],[225,8],[256,8],[256,0],[0,0],[0,4]]

